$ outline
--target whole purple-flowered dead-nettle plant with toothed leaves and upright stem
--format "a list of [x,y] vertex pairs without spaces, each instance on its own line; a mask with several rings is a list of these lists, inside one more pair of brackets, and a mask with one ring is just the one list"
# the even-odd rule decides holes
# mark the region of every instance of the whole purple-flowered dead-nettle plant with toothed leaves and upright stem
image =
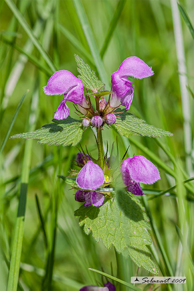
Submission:
[[[153,184],[160,179],[159,171],[142,155],[125,158],[125,153],[120,158],[118,145],[116,156],[113,156],[113,146],[108,155],[108,149],[104,152],[102,137],[105,127],[113,127],[126,137],[172,135],[128,112],[134,93],[132,77],[150,77],[152,68],[136,56],[126,58],[111,75],[111,90],[105,91],[105,84],[91,68],[79,56],[75,58],[80,73],[78,78],[69,71],[57,71],[43,87],[47,95],[63,95],[53,123],[11,138],[35,138],[41,144],[75,146],[81,141],[83,131],[89,128],[96,131],[98,158],[94,158],[87,148],[84,152],[80,145],[81,150],[76,156],[80,170],[71,169],[68,176],[60,176],[75,189],[75,200],[83,203],[74,215],[80,217],[79,225],[84,226],[87,235],[92,232],[96,242],[102,239],[107,249],[113,245],[124,257],[130,256],[138,267],[158,275],[147,247],[152,243],[147,231],[150,229],[148,217],[138,196],[146,194],[140,183]],[[67,101],[74,103],[79,120],[69,116]]]

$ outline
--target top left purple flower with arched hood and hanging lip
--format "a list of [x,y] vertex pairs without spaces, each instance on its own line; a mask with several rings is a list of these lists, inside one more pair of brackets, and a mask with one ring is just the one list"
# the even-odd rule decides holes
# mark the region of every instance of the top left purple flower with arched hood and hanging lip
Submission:
[[76,78],[69,71],[61,70],[55,72],[43,89],[46,95],[64,94],[63,100],[55,112],[55,119],[62,120],[69,116],[69,108],[66,105],[66,101],[71,101],[83,107],[88,107],[83,93],[83,83],[81,79]]

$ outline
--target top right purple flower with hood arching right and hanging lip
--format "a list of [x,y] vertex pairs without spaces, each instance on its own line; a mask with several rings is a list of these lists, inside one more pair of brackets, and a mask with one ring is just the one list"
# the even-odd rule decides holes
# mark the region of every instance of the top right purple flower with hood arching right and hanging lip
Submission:
[[110,105],[117,107],[120,104],[129,110],[133,100],[133,83],[128,80],[128,76],[137,79],[152,76],[154,73],[152,67],[149,67],[136,56],[126,58],[118,70],[111,75],[112,91]]

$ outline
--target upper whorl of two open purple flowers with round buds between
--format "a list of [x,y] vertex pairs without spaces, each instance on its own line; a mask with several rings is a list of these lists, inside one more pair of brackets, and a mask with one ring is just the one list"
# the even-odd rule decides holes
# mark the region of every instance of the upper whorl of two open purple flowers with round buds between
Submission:
[[83,126],[102,127],[104,124],[116,123],[114,111],[120,105],[129,110],[133,100],[134,84],[128,77],[142,79],[151,75],[153,75],[151,67],[140,58],[136,56],[126,58],[118,70],[111,75],[112,89],[108,102],[104,96],[97,97],[94,95],[96,110],[91,104],[90,97],[84,96],[81,79],[69,71],[60,70],[55,72],[43,88],[46,95],[63,95],[63,100],[54,114],[55,119],[62,120],[69,116],[66,101],[71,101],[78,106],[77,111],[83,119]]

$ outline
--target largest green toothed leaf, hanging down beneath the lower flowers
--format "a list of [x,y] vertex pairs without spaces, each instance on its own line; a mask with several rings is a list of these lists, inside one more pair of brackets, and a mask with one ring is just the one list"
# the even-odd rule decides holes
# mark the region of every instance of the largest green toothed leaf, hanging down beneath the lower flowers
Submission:
[[147,245],[152,243],[147,229],[148,217],[137,198],[130,197],[123,189],[117,190],[115,198],[105,198],[102,206],[82,205],[74,213],[80,216],[79,225],[84,225],[88,235],[110,249],[114,245],[118,253],[130,256],[138,265],[151,274],[158,274]]

